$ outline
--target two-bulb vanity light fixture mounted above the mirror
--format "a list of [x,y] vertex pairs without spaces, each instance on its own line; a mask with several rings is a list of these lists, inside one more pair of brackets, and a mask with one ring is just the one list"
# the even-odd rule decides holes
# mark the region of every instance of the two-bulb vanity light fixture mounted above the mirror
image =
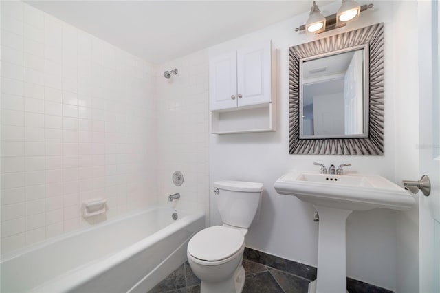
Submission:
[[350,21],[355,21],[359,18],[359,14],[369,8],[373,8],[373,4],[362,5],[355,0],[342,0],[341,7],[338,12],[324,17],[321,14],[316,2],[311,6],[309,19],[304,25],[295,29],[295,32],[302,32],[305,30],[307,34],[320,34],[328,30],[342,28]]

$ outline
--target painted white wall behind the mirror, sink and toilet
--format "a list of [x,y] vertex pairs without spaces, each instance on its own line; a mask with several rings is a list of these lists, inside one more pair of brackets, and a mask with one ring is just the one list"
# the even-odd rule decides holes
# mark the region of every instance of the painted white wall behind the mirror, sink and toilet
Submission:
[[[210,135],[210,184],[217,180],[248,180],[263,182],[265,191],[261,210],[256,223],[246,237],[246,244],[251,248],[275,254],[286,259],[316,265],[318,224],[312,221],[314,208],[296,197],[278,195],[273,188],[276,179],[289,169],[318,171],[313,162],[330,164],[352,163],[347,171],[373,173],[387,177],[399,184],[403,177],[413,177],[417,169],[417,151],[413,146],[401,148],[407,129],[400,127],[417,124],[417,117],[403,116],[396,111],[409,113],[417,108],[417,85],[408,80],[415,77],[417,61],[412,54],[415,43],[408,32],[401,29],[408,19],[417,17],[417,3],[412,1],[377,1],[372,10],[362,12],[358,21],[336,31],[321,34],[322,38],[366,25],[384,22],[385,38],[385,83],[384,83],[384,155],[383,156],[340,156],[340,155],[289,155],[288,123],[288,48],[307,41],[314,36],[294,32],[302,25],[307,14],[277,23],[258,32],[242,36],[210,48],[210,55],[215,56],[245,44],[272,39],[277,49],[277,99],[278,130],[274,133],[249,133],[240,135]],[[340,3],[322,8],[323,14],[331,14]],[[398,8],[395,11],[395,8]],[[404,25],[408,27],[408,25]],[[413,32],[413,30],[412,30]],[[408,50],[400,46],[408,45]],[[410,59],[409,62],[406,60]],[[402,70],[406,69],[406,70]],[[404,87],[402,85],[405,83]],[[414,95],[410,95],[414,93]],[[406,103],[410,101],[410,103]],[[417,111],[415,111],[417,113]],[[410,132],[417,138],[417,128],[410,127]],[[396,151],[399,149],[399,151]],[[397,157],[397,154],[399,155]],[[411,169],[403,169],[408,166]],[[399,171],[397,171],[397,169]],[[221,220],[211,199],[211,225],[220,224]],[[413,209],[417,214],[417,208]],[[417,246],[417,240],[409,240],[409,235],[417,234],[417,226],[408,224],[406,215],[391,210],[375,209],[367,212],[354,212],[347,220],[347,273],[354,279],[366,281],[391,290],[401,289],[402,282],[418,283],[417,275],[410,275],[408,270],[399,268],[397,263],[406,263],[415,251],[408,251],[398,241],[409,241],[409,246]],[[414,217],[410,217],[410,220]],[[417,218],[417,217],[416,217]],[[410,221],[409,220],[409,221]],[[399,237],[397,237],[397,230]],[[403,231],[403,232],[402,232]],[[400,246],[400,248],[398,248]],[[404,253],[410,254],[404,255]],[[402,276],[407,278],[402,280]],[[397,283],[399,282],[399,285]],[[416,292],[415,290],[414,292]]]

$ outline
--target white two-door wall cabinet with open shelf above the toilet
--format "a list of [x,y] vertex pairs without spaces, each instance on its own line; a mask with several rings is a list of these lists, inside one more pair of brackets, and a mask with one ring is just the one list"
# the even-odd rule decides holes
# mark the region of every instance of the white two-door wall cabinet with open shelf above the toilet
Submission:
[[267,41],[210,58],[212,133],[275,130],[274,55]]

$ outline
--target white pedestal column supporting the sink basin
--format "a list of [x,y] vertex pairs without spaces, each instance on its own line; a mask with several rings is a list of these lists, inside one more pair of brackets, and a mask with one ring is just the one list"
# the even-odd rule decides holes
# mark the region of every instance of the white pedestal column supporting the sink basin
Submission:
[[309,293],[347,292],[345,226],[351,210],[316,206],[319,214],[318,276]]

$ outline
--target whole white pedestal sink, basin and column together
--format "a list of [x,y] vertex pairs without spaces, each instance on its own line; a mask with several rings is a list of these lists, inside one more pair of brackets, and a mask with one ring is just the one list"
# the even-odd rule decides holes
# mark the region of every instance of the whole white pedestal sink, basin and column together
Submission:
[[378,175],[291,171],[278,178],[274,188],[314,204],[318,211],[318,277],[309,293],[347,292],[345,224],[353,210],[409,210],[415,204],[404,188]]

